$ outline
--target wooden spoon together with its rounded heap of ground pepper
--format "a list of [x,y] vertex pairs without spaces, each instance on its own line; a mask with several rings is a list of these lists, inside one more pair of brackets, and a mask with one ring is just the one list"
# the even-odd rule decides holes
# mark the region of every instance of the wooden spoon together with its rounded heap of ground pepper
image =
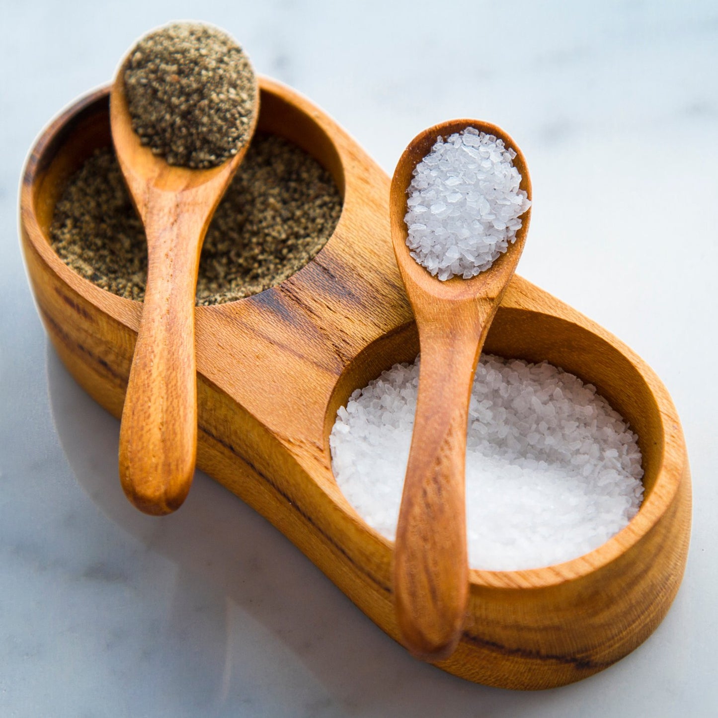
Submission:
[[141,38],[110,97],[112,139],[147,238],[147,284],[120,429],[123,489],[146,513],[190,490],[197,454],[195,291],[210,219],[256,127],[252,67],[221,30]]

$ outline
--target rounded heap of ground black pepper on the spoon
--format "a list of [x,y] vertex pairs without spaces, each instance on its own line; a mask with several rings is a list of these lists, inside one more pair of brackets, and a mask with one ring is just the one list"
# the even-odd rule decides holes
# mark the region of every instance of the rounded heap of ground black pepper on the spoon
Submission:
[[143,37],[124,73],[132,127],[169,164],[215,167],[249,135],[256,80],[228,34],[173,23]]

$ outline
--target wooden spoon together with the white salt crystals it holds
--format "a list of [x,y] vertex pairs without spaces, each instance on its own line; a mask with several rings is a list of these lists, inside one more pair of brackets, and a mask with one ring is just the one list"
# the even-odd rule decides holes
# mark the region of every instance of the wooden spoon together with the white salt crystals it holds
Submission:
[[421,352],[394,593],[404,642],[427,661],[454,651],[464,622],[472,378],[523,251],[530,205],[523,154],[501,129],[477,120],[421,132],[391,182],[391,239]]

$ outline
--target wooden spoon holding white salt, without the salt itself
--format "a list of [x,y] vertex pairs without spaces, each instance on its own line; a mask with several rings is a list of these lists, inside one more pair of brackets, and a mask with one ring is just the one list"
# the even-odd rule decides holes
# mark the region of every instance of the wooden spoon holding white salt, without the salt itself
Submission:
[[468,598],[464,467],[469,398],[476,364],[496,309],[516,270],[531,208],[508,251],[472,279],[440,281],[406,246],[406,190],[416,164],[437,141],[467,127],[503,139],[531,199],[516,143],[495,125],[458,119],[430,127],[406,148],[391,180],[391,241],[419,329],[421,364],[414,434],[406,467],[394,556],[399,628],[414,656],[438,661],[459,641]]

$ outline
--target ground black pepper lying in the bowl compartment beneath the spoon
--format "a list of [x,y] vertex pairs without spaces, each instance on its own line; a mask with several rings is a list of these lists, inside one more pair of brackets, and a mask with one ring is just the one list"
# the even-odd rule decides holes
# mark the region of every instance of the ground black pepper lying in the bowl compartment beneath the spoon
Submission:
[[[331,175],[297,145],[257,134],[215,212],[202,247],[197,304],[263,292],[314,257],[339,220]],[[50,227],[72,269],[108,292],[144,298],[146,240],[111,148],[70,177]]]

